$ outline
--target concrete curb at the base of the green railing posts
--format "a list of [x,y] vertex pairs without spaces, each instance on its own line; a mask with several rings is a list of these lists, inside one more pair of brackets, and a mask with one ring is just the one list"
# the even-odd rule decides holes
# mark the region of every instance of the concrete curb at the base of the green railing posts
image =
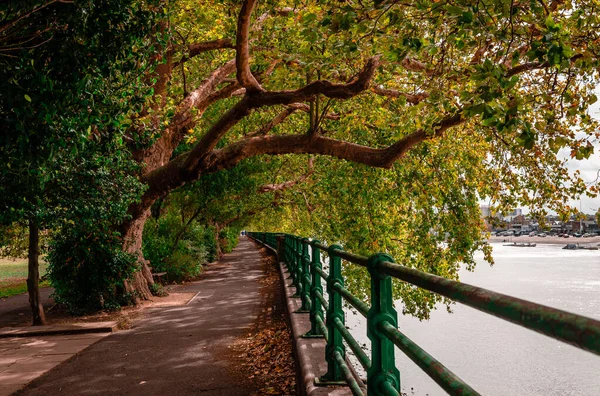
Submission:
[[[270,246],[258,242],[276,255]],[[316,386],[315,378],[319,378],[327,372],[325,362],[325,339],[302,338],[302,335],[310,330],[310,318],[308,313],[295,313],[302,305],[299,298],[292,297],[294,288],[290,280],[286,279],[289,273],[283,263],[278,263],[281,284],[284,289],[286,307],[290,327],[292,329],[292,344],[294,347],[294,360],[296,361],[296,379],[300,395],[303,396],[346,396],[352,395],[347,386]]]

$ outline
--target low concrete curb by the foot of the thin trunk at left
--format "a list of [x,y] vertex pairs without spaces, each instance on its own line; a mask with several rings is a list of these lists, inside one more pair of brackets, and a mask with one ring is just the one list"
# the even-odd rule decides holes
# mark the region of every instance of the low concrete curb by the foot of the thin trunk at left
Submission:
[[0,328],[0,338],[112,333],[116,329],[117,322],[89,322],[68,325],[4,327]]

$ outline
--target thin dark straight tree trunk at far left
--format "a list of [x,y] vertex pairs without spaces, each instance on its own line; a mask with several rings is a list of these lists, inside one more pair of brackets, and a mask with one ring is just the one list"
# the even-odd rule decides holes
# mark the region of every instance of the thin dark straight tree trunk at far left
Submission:
[[29,255],[27,266],[27,292],[33,314],[33,326],[46,324],[44,307],[40,302],[40,238],[35,220],[29,220]]

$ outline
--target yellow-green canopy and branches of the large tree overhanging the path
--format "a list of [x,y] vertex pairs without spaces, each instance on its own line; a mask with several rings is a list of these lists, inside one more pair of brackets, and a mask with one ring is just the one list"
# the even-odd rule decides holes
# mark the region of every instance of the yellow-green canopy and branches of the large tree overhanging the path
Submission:
[[[456,278],[477,249],[491,260],[481,199],[566,214],[586,191],[557,153],[587,158],[599,138],[595,1],[179,0],[161,12],[152,67],[139,68],[150,96],[106,96],[146,187],[120,226],[126,251],[139,253],[169,195],[204,221],[389,251]],[[111,130],[103,111],[88,133]],[[132,288],[148,296],[151,283],[141,260]],[[420,316],[437,301],[399,292]]]

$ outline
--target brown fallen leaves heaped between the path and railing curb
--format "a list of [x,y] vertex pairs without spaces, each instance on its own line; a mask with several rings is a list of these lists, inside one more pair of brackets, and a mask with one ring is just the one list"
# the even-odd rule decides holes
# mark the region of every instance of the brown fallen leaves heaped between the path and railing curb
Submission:
[[[261,395],[297,395],[292,337],[286,322],[276,259],[265,248],[262,284],[263,305],[255,327],[233,347],[248,380]],[[242,373],[240,373],[242,374]]]

